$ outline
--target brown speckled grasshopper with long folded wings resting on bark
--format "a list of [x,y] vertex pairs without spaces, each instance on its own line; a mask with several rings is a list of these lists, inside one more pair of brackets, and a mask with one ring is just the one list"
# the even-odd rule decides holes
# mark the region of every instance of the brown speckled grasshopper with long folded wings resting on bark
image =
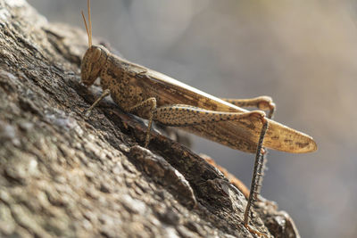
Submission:
[[[92,45],[89,0],[87,12],[88,24],[82,12],[88,49],[81,63],[81,82],[91,86],[96,78],[101,78],[103,94],[88,108],[86,115],[104,97],[111,95],[122,111],[148,119],[145,147],[150,142],[152,123],[156,121],[236,150],[255,153],[244,225],[249,231],[261,234],[251,229],[248,223],[250,207],[256,201],[262,184],[264,148],[294,153],[313,152],[317,145],[311,136],[270,119],[275,104],[269,96],[253,99],[214,97],[160,72],[124,60],[102,45]],[[259,110],[247,111],[241,107],[256,107]],[[268,117],[264,112],[267,110],[270,110]]]

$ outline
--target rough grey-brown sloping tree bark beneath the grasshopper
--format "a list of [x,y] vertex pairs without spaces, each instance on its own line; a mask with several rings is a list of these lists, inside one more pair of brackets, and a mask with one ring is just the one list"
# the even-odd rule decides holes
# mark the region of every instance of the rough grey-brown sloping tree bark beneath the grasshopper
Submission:
[[[243,194],[187,147],[157,132],[140,147],[145,124],[110,99],[84,117],[100,94],[79,83],[86,49],[83,30],[0,0],[0,235],[254,236]],[[298,236],[269,203],[252,227]]]

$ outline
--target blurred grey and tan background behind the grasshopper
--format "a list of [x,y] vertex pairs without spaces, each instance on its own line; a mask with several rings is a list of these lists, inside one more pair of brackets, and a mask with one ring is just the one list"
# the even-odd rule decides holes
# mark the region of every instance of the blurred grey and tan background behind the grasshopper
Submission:
[[[48,21],[84,29],[85,0],[28,0]],[[270,152],[262,195],[303,237],[357,237],[357,3],[352,0],[92,0],[94,37],[132,62],[220,97],[270,95],[275,119],[317,152]],[[198,137],[250,184],[253,155]]]

